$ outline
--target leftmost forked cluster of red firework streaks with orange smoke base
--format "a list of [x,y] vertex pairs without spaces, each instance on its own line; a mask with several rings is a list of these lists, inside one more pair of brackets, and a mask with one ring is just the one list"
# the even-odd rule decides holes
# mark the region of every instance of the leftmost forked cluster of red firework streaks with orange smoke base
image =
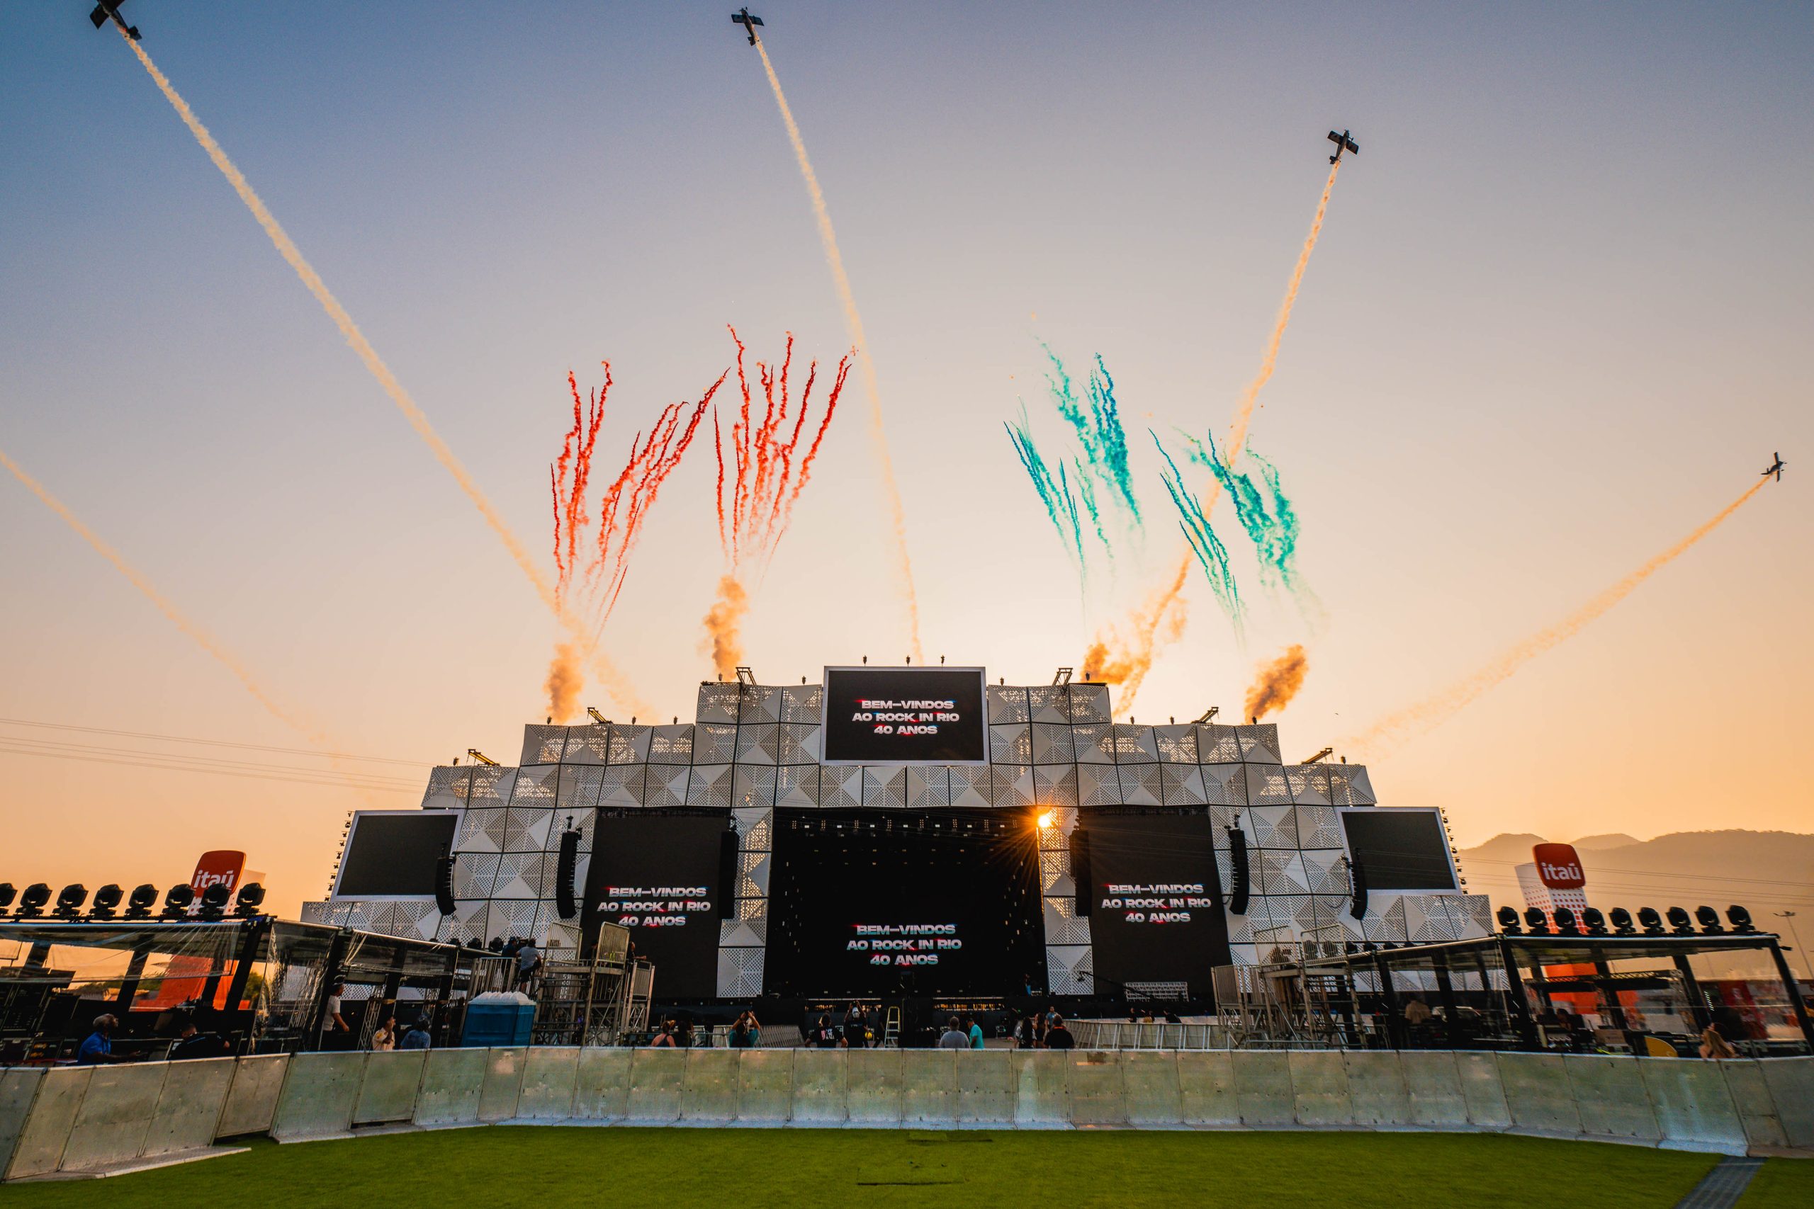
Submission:
[[561,442],[561,457],[548,468],[555,515],[555,598],[562,613],[590,625],[584,643],[575,640],[555,647],[548,669],[548,711],[561,721],[579,711],[584,653],[599,643],[604,624],[617,607],[624,578],[629,575],[629,555],[642,537],[642,524],[668,475],[680,466],[682,455],[693,444],[713,395],[729,375],[729,370],[720,373],[698,402],[671,402],[662,408],[646,439],[642,433],[635,435],[624,469],[604,489],[599,511],[593,513],[586,502],[586,488],[591,482],[599,426],[604,422],[604,406],[611,393],[611,363],[600,364],[604,384],[593,388],[590,397],[580,397],[579,379],[568,373],[573,426]]

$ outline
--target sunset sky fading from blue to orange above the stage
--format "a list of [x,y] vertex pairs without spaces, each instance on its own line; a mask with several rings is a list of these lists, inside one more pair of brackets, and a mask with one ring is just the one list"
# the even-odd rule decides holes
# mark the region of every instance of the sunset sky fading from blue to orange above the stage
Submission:
[[[1322,616],[1257,585],[1224,502],[1246,642],[1194,573],[1192,625],[1134,716],[1235,714],[1253,667],[1302,642],[1277,721],[1308,756],[1585,604],[1780,450],[1780,486],[1371,770],[1382,805],[1442,805],[1464,845],[1809,830],[1814,9],[758,13],[867,326],[929,658],[1045,683],[1177,556],[1145,430],[1224,430],[1324,132],[1351,129],[1252,430]],[[550,567],[570,370],[611,361],[613,460],[731,364],[726,324],[753,355],[784,332],[802,357],[849,348],[722,4],[127,15]],[[515,761],[559,627],[85,5],[0,7],[0,450],[328,747],[401,761],[357,765],[372,792],[303,783],[332,779],[303,736],[0,477],[0,879],[171,883],[245,848],[294,910],[325,892],[346,810],[415,805],[468,747]],[[1001,430],[1025,401],[1058,435],[1041,339],[1114,372],[1148,506],[1090,600]],[[909,649],[863,408],[853,381],[755,591],[767,683]],[[606,631],[664,721],[711,676],[713,471],[697,446],[673,475]]]

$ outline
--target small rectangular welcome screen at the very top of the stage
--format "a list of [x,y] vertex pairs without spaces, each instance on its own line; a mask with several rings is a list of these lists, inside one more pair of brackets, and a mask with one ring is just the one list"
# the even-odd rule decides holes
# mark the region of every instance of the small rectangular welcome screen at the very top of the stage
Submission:
[[827,667],[829,765],[989,763],[981,667]]

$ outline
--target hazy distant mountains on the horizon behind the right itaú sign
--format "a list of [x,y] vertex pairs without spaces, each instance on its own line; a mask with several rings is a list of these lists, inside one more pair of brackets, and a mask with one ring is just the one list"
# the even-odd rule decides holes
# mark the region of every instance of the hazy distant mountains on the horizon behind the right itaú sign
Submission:
[[[1542,836],[1495,836],[1473,848],[1457,850],[1468,888],[1493,897],[1493,904],[1524,906],[1513,866],[1531,859]],[[1613,906],[1707,904],[1721,912],[1743,904],[1760,928],[1780,932],[1787,944],[1789,921],[1776,912],[1796,912],[1801,937],[1814,946],[1814,836],[1799,832],[1673,832],[1656,839],[1587,836],[1575,841],[1587,874],[1587,901]],[[1809,957],[1814,957],[1810,953]],[[1805,962],[1792,961],[1796,970]]]

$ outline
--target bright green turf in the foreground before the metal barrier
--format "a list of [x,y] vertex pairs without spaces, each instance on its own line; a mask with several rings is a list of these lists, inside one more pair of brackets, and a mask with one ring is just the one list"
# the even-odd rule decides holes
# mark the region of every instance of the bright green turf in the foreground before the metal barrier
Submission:
[[[1714,1162],[1712,1155],[1507,1135],[519,1126],[297,1146],[259,1142],[245,1155],[134,1173],[102,1185],[9,1185],[0,1200],[7,1209],[96,1204],[109,1209],[238,1204],[258,1209],[366,1204],[1527,1209],[1560,1198],[1595,1209],[1669,1209]],[[1774,1160],[1776,1165],[1787,1160]],[[1794,1196],[1810,1185],[1796,1178],[1781,1187]],[[1807,1200],[1758,1202],[1774,1204]]]

